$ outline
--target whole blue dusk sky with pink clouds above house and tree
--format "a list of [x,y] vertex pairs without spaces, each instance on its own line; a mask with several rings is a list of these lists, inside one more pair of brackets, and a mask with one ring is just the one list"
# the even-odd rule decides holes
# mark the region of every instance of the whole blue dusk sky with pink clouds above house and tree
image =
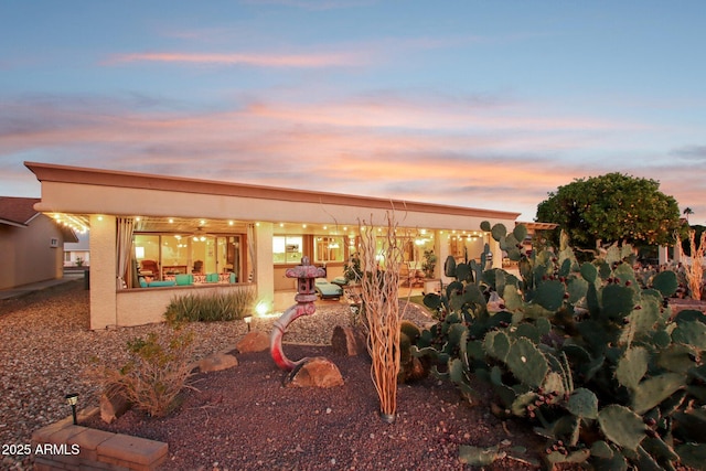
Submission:
[[522,213],[660,182],[706,225],[706,2],[0,2],[0,195],[36,161]]

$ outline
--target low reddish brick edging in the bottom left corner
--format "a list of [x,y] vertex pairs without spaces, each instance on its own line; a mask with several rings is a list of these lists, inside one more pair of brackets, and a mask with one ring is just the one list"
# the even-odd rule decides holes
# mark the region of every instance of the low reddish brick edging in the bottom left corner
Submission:
[[[98,413],[82,410],[79,422]],[[161,441],[74,425],[72,417],[32,433],[34,469],[44,470],[156,470],[167,460]]]

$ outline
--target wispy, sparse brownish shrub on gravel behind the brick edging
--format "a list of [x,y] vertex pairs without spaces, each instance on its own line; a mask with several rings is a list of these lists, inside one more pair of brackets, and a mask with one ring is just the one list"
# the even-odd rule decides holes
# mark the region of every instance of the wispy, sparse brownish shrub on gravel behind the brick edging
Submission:
[[101,371],[107,396],[124,394],[130,405],[152,417],[168,415],[191,376],[193,333],[168,327],[165,333],[149,333],[127,343],[129,360],[121,368]]

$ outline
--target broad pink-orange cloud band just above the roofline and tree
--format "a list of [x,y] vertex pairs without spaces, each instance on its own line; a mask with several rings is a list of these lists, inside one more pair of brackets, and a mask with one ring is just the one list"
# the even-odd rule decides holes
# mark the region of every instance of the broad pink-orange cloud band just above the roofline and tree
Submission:
[[559,185],[621,171],[660,180],[663,192],[706,214],[702,168],[652,164],[635,174],[630,162],[566,159],[610,147],[612,135],[638,132],[640,122],[535,117],[522,103],[471,98],[270,97],[196,114],[149,97],[18,100],[0,119],[0,158],[62,156],[84,167],[516,211],[524,221]]

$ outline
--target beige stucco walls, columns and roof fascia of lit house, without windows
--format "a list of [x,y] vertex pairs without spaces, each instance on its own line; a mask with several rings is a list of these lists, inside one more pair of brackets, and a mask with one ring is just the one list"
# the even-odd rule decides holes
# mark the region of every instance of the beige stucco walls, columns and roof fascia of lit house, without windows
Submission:
[[[282,270],[274,263],[272,237],[280,234],[278,231],[281,231],[282,222],[300,229],[309,225],[307,231],[312,231],[314,225],[319,229],[329,225],[349,226],[350,232],[356,232],[362,221],[382,225],[386,215],[394,212],[400,226],[424,227],[434,234],[439,256],[437,276],[440,276],[447,255],[442,236],[449,237],[453,231],[480,231],[483,221],[511,227],[518,216],[518,213],[370,196],[36,162],[25,162],[25,165],[42,184],[42,201],[36,205],[39,211],[89,220],[92,329],[159,322],[162,307],[169,301],[168,296],[180,290],[119,288],[116,282],[118,217],[235,220],[240,225],[246,224],[253,232],[247,237],[247,251],[254,258],[254,270],[252,280],[242,281],[252,282],[258,303],[271,311],[281,308],[276,306],[276,279],[278,285],[288,282],[279,279]],[[488,234],[484,237],[490,239]],[[491,247],[496,251],[493,264],[500,264],[502,254],[499,247],[496,244],[491,244]],[[334,267],[332,276],[342,270],[340,265]],[[284,302],[291,304],[291,295]]]

